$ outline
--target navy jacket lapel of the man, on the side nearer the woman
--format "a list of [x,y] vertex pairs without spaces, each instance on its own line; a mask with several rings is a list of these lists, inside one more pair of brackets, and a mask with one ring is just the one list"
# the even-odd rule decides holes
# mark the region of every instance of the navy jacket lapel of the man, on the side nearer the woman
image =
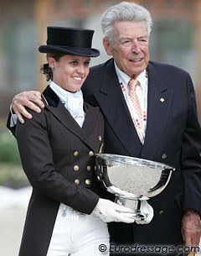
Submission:
[[128,155],[139,156],[142,144],[121,91],[113,60],[109,60],[102,77],[101,90],[95,93],[106,121],[110,124],[117,138]]

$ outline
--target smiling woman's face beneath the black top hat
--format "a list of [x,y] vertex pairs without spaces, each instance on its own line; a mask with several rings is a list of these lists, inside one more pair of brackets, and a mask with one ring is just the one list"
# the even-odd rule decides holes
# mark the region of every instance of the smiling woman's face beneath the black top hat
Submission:
[[64,55],[59,61],[49,57],[53,81],[66,91],[78,91],[89,75],[90,57]]

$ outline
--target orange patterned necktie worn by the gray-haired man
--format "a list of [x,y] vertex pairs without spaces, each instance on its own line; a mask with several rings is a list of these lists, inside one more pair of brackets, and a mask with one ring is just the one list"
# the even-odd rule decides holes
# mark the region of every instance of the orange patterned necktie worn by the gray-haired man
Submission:
[[139,85],[139,81],[137,79],[132,79],[128,82],[129,87],[129,97],[131,99],[132,105],[137,113],[137,117],[139,118],[139,123],[142,124],[142,109],[137,97],[136,88]]

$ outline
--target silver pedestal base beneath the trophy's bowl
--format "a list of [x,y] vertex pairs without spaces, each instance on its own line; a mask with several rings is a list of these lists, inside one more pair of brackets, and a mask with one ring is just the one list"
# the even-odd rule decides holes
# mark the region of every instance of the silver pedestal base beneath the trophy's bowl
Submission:
[[[147,200],[148,198],[145,196],[144,200]],[[117,196],[116,195],[116,204],[125,206],[126,208],[129,208],[133,211],[133,216],[141,221],[144,221],[147,218],[147,214],[144,214],[141,211],[141,200],[143,199],[138,199],[138,198],[126,198],[122,196]]]

